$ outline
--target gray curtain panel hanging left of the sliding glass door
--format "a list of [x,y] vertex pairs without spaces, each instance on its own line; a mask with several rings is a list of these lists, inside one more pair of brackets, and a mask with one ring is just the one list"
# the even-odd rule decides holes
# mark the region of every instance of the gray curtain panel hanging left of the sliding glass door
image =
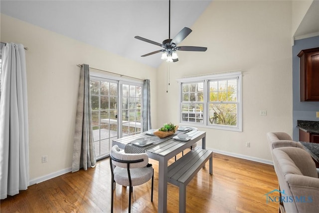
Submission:
[[94,167],[94,152],[89,65],[82,64],[75,118],[72,172]]

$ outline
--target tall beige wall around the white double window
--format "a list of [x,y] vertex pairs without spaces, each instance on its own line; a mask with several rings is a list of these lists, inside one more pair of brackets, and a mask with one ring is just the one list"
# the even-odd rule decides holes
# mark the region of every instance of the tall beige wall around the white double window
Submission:
[[[243,132],[201,130],[207,132],[208,148],[270,161],[266,133],[292,135],[293,129],[291,11],[291,1],[213,1],[181,44],[208,50],[178,52],[179,62],[169,67],[168,93],[166,65],[159,68],[158,108],[165,113],[158,114],[158,124],[178,122],[175,79],[242,70]],[[267,116],[260,116],[260,110],[267,110]]]

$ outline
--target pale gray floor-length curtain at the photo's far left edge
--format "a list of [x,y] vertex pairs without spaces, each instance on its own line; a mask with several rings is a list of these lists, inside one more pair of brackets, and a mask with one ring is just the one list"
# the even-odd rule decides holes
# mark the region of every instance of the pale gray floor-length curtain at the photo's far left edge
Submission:
[[29,185],[29,130],[25,52],[22,44],[1,50],[0,199]]

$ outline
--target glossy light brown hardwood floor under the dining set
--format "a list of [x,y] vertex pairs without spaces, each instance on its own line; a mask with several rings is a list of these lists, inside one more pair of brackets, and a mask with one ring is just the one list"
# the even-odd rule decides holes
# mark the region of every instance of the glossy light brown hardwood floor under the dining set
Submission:
[[[180,156],[179,156],[180,157]],[[170,160],[170,163],[173,159]],[[151,181],[134,187],[132,213],[156,213],[158,210],[158,163],[154,167],[154,202]],[[187,185],[187,213],[277,213],[278,204],[266,204],[268,192],[278,189],[271,165],[213,155],[213,175],[208,163]],[[1,200],[1,213],[110,212],[111,172],[109,159],[101,160],[88,171],[68,173],[30,186],[20,194]],[[126,187],[116,186],[114,212],[128,212]],[[178,213],[178,188],[168,184],[167,212]]]

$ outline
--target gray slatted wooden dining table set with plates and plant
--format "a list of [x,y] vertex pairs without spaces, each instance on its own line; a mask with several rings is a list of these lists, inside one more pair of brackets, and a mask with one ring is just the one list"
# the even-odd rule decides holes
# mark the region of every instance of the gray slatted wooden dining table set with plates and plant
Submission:
[[[188,137],[179,139],[177,134],[184,133]],[[136,144],[137,139],[147,138],[147,145]],[[185,127],[177,130],[173,135],[159,138],[152,131],[126,136],[112,141],[112,146],[118,145],[126,153],[147,153],[149,158],[159,162],[159,190],[158,190],[158,212],[167,212],[167,166],[168,160],[181,153],[182,151],[194,146],[201,140],[201,148],[206,149],[206,132],[199,131],[197,128]],[[154,142],[152,142],[154,141]]]

